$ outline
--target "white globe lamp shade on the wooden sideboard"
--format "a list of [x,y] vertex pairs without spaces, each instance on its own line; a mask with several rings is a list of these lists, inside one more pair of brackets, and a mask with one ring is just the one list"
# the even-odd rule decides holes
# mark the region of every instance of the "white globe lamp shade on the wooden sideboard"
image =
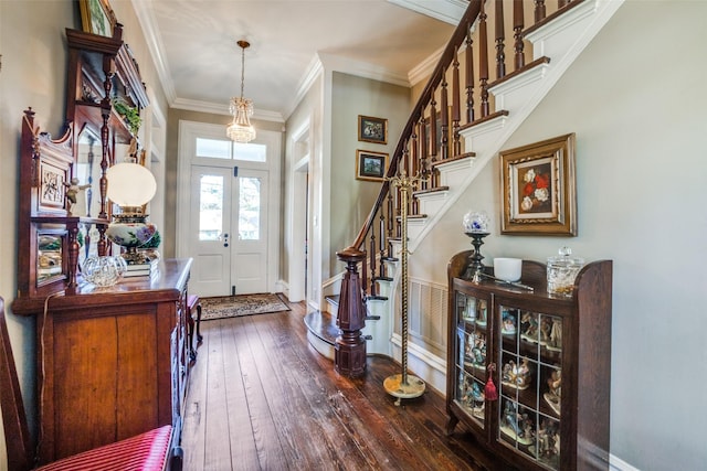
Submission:
[[141,206],[157,192],[152,172],[138,163],[120,162],[106,171],[108,197],[118,206]]

